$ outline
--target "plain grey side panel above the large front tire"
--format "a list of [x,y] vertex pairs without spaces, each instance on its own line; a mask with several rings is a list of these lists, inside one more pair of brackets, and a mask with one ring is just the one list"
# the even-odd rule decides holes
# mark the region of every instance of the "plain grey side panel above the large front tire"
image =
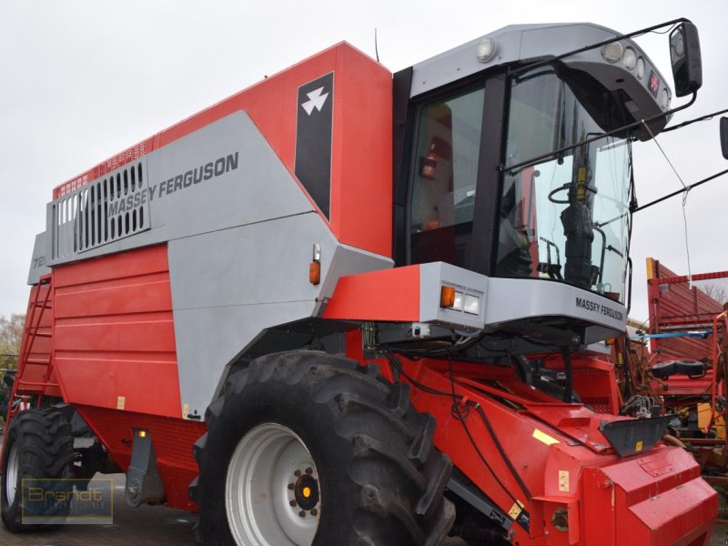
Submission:
[[[313,244],[322,282],[308,282]],[[391,267],[339,245],[316,213],[176,239],[168,246],[183,411],[203,415],[230,361],[265,329],[319,315],[340,277]],[[187,406],[187,408],[186,408]]]

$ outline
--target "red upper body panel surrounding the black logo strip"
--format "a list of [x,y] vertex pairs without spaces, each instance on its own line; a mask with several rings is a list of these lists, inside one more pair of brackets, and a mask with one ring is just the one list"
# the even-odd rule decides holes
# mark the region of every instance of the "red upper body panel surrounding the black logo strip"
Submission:
[[[54,198],[136,157],[245,110],[293,175],[298,87],[334,74],[329,225],[343,243],[391,256],[391,73],[349,44],[335,45],[147,138],[56,187]],[[305,191],[301,187],[301,191]],[[313,203],[313,201],[312,201]]]

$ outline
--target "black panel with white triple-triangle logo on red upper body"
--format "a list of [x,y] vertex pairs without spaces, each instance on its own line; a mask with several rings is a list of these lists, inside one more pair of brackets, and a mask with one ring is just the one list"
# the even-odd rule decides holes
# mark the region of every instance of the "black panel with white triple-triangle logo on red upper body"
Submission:
[[329,72],[298,87],[296,108],[294,171],[325,217],[330,217],[334,93],[334,73]]

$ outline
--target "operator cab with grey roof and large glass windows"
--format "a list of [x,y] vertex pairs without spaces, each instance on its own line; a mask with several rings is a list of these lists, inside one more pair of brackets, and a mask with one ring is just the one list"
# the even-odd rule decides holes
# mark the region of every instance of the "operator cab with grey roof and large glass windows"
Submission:
[[[672,43],[693,29],[678,27]],[[487,298],[514,291],[521,316],[493,306],[489,317],[486,306],[486,328],[547,319],[589,329],[583,311],[596,311],[593,323],[606,328],[582,340],[623,329],[632,141],[662,131],[672,91],[617,36],[590,24],[508,26],[395,75],[395,258],[486,276]],[[541,293],[516,279],[571,289]],[[544,318],[521,292],[568,301]]]

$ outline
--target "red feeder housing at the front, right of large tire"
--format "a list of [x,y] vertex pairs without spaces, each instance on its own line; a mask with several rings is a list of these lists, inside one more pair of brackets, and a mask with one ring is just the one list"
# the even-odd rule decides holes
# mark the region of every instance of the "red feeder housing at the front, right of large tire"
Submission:
[[[391,359],[364,360],[360,349],[348,356],[376,362],[395,380]],[[415,406],[437,420],[435,445],[511,518],[512,543],[708,543],[717,495],[684,450],[658,442],[621,458],[600,426],[629,418],[554,399],[511,367],[395,358],[402,380],[413,384]],[[613,379],[613,367],[601,364],[596,373]],[[575,359],[574,369],[586,370],[582,379],[594,373],[589,368]]]

